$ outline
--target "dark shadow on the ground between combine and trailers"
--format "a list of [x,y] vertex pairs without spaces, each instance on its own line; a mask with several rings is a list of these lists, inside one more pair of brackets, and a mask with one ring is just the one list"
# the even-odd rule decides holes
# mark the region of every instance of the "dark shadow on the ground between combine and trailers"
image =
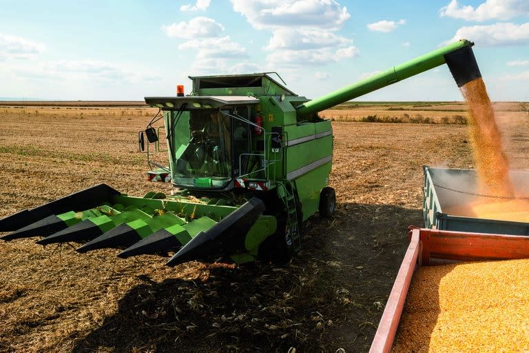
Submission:
[[[421,210],[341,203],[304,225],[291,263],[209,265],[203,279],[147,276],[74,352],[364,352]],[[178,271],[178,267],[175,268]]]

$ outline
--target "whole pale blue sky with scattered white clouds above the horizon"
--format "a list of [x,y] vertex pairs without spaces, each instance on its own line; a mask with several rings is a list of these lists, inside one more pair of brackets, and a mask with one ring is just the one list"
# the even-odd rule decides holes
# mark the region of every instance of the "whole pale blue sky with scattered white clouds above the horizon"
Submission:
[[[278,72],[313,99],[458,39],[493,101],[529,101],[528,0],[0,0],[0,97],[143,100]],[[360,101],[459,101],[446,65]]]

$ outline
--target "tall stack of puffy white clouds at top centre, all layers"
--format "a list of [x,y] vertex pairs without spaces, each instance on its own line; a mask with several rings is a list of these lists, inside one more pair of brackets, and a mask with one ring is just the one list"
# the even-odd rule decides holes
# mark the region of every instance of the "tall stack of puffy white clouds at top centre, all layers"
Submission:
[[264,46],[271,54],[267,66],[325,65],[353,57],[352,40],[335,32],[351,15],[334,0],[231,0],[234,11],[242,14],[258,30],[271,32]]

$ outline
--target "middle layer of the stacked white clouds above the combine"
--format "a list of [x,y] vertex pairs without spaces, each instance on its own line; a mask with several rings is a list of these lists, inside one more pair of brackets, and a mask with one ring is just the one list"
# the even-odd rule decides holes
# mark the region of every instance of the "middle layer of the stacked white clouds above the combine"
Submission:
[[279,28],[273,31],[268,46],[265,50],[276,49],[317,49],[324,47],[342,46],[351,43],[351,39],[341,37],[332,32],[320,30]]

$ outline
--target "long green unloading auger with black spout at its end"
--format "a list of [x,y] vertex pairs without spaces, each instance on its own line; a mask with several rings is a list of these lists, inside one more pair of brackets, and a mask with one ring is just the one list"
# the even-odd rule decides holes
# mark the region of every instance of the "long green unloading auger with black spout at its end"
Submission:
[[444,63],[448,64],[448,68],[450,68],[457,85],[461,87],[461,85],[481,77],[471,48],[473,45],[473,42],[461,39],[448,46],[433,50],[433,52],[375,74],[372,77],[325,94],[320,98],[297,105],[295,109],[299,116],[307,117],[369,92],[379,90],[387,85],[408,79],[416,74],[431,70]]

